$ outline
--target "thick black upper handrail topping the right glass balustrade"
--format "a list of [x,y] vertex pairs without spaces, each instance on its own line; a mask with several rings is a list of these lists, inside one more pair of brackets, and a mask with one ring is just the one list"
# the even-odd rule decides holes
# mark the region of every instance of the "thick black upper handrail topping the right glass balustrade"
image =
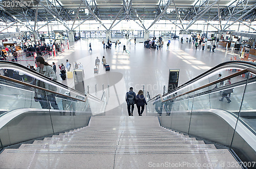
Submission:
[[[193,78],[193,79],[191,79],[191,80],[185,82],[184,84],[178,86],[177,88],[175,88],[175,89],[173,89],[173,90],[171,90],[171,91],[165,93],[163,96],[166,96],[166,95],[168,95],[169,93],[174,92],[175,90],[178,90],[178,89],[180,89],[180,88],[182,88],[182,87],[185,87],[185,86],[188,85],[189,83],[195,82],[196,80],[202,78],[203,76],[207,75],[208,73],[210,73],[211,71],[213,71],[213,70],[215,70],[215,69],[217,69],[217,68],[220,68],[220,67],[222,67],[222,66],[229,65],[229,64],[238,64],[238,65],[244,65],[244,64],[245,64],[245,65],[248,66],[248,67],[254,67],[254,68],[256,68],[256,63],[254,63],[254,62],[240,61],[240,60],[223,62],[223,63],[220,63],[220,64],[216,65],[215,67],[212,67],[211,69],[205,71],[204,73],[200,74],[199,76],[197,76],[197,77],[195,77],[195,78]],[[156,95],[156,96],[158,96],[158,95]],[[156,96],[155,96],[154,98],[156,98]],[[154,99],[154,98],[152,98],[152,99]]]

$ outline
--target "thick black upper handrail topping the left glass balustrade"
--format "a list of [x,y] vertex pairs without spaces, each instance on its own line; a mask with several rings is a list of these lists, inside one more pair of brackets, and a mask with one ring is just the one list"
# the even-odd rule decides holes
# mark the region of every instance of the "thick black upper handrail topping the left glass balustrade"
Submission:
[[0,61],[0,68],[1,68],[1,64],[4,64],[5,66],[8,66],[8,65],[9,65],[9,66],[17,66],[17,68],[25,69],[25,70],[28,71],[29,73],[35,74],[36,76],[38,76],[38,77],[40,77],[40,78],[44,78],[44,79],[46,79],[46,80],[51,81],[51,83],[55,83],[55,84],[58,85],[58,86],[61,86],[61,87],[66,88],[66,89],[68,89],[68,90],[71,90],[71,91],[73,91],[73,92],[75,92],[75,93],[79,93],[80,95],[83,95],[84,97],[86,97],[86,94],[84,94],[84,93],[82,93],[82,92],[80,92],[80,91],[77,91],[77,90],[75,90],[75,89],[73,89],[73,88],[71,88],[71,87],[69,87],[69,86],[66,86],[65,84],[62,84],[62,83],[60,83],[60,82],[52,81],[51,78],[48,78],[48,77],[46,77],[46,76],[44,76],[44,75],[38,73],[37,71],[32,70],[32,69],[30,69],[30,68],[28,68],[28,67],[26,67],[26,66],[24,66],[24,65],[21,65],[21,64],[15,63],[15,62],[4,61],[4,60],[1,60],[1,61]]

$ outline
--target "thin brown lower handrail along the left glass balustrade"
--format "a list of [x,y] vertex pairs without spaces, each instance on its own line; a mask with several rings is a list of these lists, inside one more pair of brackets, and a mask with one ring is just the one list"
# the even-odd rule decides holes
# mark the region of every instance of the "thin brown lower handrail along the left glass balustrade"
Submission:
[[0,75],[0,78],[12,81],[14,83],[18,83],[18,84],[22,84],[22,85],[25,85],[25,86],[33,87],[33,88],[36,88],[36,89],[40,89],[40,90],[44,90],[44,91],[47,91],[47,92],[51,92],[51,93],[54,93],[54,94],[58,94],[58,95],[66,97],[66,98],[74,99],[74,100],[77,100],[77,101],[81,101],[81,102],[86,102],[87,101],[87,97],[86,97],[86,100],[83,101],[83,100],[80,100],[80,99],[77,99],[77,98],[73,98],[73,97],[71,97],[69,95],[61,94],[61,93],[58,93],[56,91],[52,91],[52,90],[45,89],[45,88],[42,88],[42,87],[39,87],[39,86],[35,86],[35,85],[29,84],[29,83],[25,83],[25,82],[22,82],[22,81],[19,81],[19,80],[16,80],[16,79],[12,79],[12,78],[9,78],[9,77],[3,76],[3,75]]

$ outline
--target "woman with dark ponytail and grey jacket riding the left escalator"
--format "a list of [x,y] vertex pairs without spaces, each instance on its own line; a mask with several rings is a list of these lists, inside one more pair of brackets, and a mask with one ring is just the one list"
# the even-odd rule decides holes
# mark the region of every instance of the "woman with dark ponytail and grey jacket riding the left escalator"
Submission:
[[[45,59],[41,56],[37,56],[35,58],[35,64],[37,66],[36,71],[48,78],[50,78],[52,81],[56,81],[57,77],[56,74],[53,71],[53,68],[50,64],[48,64]],[[37,79],[34,80],[35,85],[51,90],[56,91],[56,86],[50,85],[49,83],[39,81]],[[40,99],[39,99],[40,98]],[[53,109],[58,110],[58,105],[56,103],[55,94],[52,92],[45,92],[42,90],[35,89],[35,101],[40,103],[42,109]]]

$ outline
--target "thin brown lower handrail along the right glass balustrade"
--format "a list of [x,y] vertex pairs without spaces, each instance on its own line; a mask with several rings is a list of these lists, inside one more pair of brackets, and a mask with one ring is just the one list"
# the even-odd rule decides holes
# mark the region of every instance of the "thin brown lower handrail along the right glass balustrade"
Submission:
[[[255,70],[255,69],[252,69],[252,68],[248,67],[248,68],[246,68],[246,69],[243,69],[243,70],[238,71],[237,73],[231,74],[231,75],[229,75],[229,76],[227,76],[227,77],[225,77],[225,78],[222,78],[222,79],[216,80],[216,81],[214,81],[214,82],[208,83],[208,84],[206,84],[206,85],[200,86],[200,87],[195,88],[195,89],[193,89],[193,90],[189,90],[189,91],[187,91],[187,92],[185,92],[185,93],[182,93],[182,94],[180,94],[180,95],[176,95],[176,96],[174,96],[174,97],[172,97],[172,98],[169,98],[169,99],[166,99],[166,100],[162,100],[162,99],[161,99],[161,102],[167,102],[167,101],[169,101],[169,100],[173,100],[173,99],[179,98],[179,97],[182,96],[182,95],[186,95],[186,94],[189,94],[189,93],[191,93],[191,92],[195,92],[195,91],[201,90],[201,89],[203,89],[203,88],[205,88],[205,87],[209,87],[209,86],[214,85],[214,84],[217,84],[217,83],[219,83],[219,82],[221,82],[221,81],[225,81],[225,80],[227,80],[227,79],[231,79],[231,78],[233,78],[233,77],[237,77],[237,76],[242,75],[242,74],[245,74],[245,73],[247,73],[247,72],[251,72],[251,73],[253,73],[253,74],[256,74],[256,70]],[[154,99],[155,99],[156,97],[158,97],[159,95],[160,95],[160,98],[161,98],[162,95],[161,95],[161,94],[157,94],[157,95],[156,95],[154,98],[152,98],[150,101],[154,100]],[[160,99],[160,98],[159,98],[159,99]],[[149,101],[148,101],[148,102],[149,102]]]

